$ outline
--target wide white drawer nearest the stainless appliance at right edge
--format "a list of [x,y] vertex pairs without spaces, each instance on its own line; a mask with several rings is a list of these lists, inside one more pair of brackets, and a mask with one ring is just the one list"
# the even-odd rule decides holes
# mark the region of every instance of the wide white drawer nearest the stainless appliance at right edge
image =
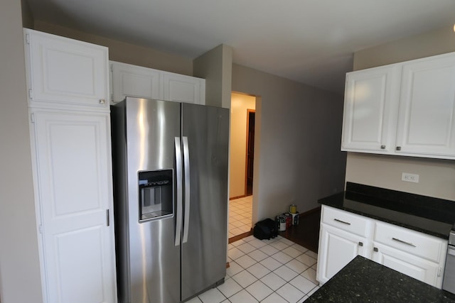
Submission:
[[437,263],[443,258],[447,246],[446,241],[434,236],[382,222],[376,222],[373,241]]

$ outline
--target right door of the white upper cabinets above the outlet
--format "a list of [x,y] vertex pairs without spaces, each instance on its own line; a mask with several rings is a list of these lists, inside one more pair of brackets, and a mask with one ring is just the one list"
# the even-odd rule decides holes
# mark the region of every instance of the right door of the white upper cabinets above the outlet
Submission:
[[455,155],[455,57],[403,65],[397,153]]

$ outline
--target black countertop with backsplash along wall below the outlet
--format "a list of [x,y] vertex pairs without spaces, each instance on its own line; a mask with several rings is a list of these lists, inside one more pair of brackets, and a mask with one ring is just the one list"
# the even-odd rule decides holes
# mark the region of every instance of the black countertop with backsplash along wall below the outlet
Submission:
[[350,182],[319,203],[444,239],[455,222],[453,201]]

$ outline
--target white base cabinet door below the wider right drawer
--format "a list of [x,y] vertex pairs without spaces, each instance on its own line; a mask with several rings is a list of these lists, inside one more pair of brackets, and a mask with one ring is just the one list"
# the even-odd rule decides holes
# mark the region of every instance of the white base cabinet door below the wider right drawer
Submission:
[[438,263],[404,253],[400,250],[381,245],[380,243],[374,242],[373,246],[378,250],[373,252],[373,261],[434,287],[441,288],[441,272],[444,272],[444,268],[439,268]]

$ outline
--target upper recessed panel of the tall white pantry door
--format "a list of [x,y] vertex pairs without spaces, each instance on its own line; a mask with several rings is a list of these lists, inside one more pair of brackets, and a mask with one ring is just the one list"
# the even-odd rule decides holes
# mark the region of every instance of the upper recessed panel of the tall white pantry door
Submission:
[[[79,211],[100,209],[102,193],[100,180],[100,126],[93,121],[46,121],[48,148],[53,158],[47,158],[49,177],[53,184],[53,216],[75,214]],[[105,131],[105,130],[104,130]],[[98,135],[98,136],[97,136]],[[90,144],[87,144],[90,143]],[[86,172],[90,172],[87,174]],[[85,177],[81,178],[81,175]]]

